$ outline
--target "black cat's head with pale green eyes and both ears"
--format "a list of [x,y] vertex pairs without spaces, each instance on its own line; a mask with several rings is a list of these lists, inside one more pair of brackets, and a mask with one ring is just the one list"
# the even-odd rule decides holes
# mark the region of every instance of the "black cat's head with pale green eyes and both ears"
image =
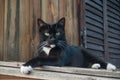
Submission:
[[40,44],[46,47],[64,47],[65,39],[65,18],[56,23],[46,23],[41,19],[37,20],[39,27]]

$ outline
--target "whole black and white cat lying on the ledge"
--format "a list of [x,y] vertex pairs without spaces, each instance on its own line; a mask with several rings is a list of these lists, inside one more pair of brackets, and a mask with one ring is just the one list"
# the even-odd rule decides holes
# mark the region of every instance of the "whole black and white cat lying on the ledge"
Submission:
[[40,36],[37,56],[21,66],[22,73],[28,74],[34,67],[43,65],[116,70],[115,65],[89,53],[85,48],[67,44],[65,18],[50,24],[38,19],[37,23]]

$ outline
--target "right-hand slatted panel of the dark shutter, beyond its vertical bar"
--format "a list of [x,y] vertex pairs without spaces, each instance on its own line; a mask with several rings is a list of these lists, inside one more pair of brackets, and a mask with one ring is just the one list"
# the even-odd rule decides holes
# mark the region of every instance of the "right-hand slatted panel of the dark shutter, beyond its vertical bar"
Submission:
[[120,66],[120,0],[107,0],[107,22],[109,60]]

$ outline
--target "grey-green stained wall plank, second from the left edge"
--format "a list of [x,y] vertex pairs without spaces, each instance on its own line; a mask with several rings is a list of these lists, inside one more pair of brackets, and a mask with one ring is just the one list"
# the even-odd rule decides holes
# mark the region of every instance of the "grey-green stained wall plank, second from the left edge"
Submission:
[[[18,0],[19,1],[19,0]],[[19,10],[19,7],[17,7],[18,4],[16,4],[16,0],[11,0],[10,1],[10,19],[8,19],[9,24],[7,24],[7,56],[8,60],[19,60],[19,51],[18,51],[18,44],[19,44],[19,39],[18,39],[18,32],[19,32],[19,24],[17,23],[16,25],[16,18],[19,19],[16,16],[16,11]],[[17,13],[18,14],[18,13]]]

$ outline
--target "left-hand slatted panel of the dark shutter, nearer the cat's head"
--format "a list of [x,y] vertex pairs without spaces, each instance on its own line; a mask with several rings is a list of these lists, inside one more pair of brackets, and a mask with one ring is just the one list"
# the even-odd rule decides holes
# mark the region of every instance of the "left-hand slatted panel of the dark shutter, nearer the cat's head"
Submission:
[[85,47],[90,52],[103,57],[104,52],[104,27],[102,0],[86,0],[86,42]]

